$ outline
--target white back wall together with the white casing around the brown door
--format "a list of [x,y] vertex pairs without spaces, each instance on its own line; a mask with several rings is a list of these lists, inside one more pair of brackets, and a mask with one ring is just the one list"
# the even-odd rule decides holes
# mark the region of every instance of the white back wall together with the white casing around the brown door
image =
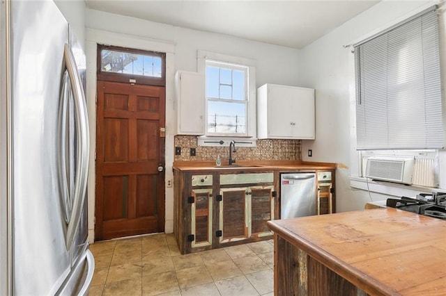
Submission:
[[[121,37],[120,37],[121,36]],[[213,51],[256,60],[256,86],[264,83],[297,85],[299,51],[227,35],[194,31],[142,19],[86,10],[87,101],[91,123],[91,146],[95,147],[95,44],[102,42],[146,50],[170,51],[167,56],[166,85],[166,179],[173,179],[174,160],[174,73],[176,70],[197,71],[197,51]],[[170,47],[171,46],[171,47]],[[94,159],[94,148],[91,150]],[[93,241],[95,170],[89,170],[89,240]],[[167,233],[173,231],[173,189],[166,188]]]

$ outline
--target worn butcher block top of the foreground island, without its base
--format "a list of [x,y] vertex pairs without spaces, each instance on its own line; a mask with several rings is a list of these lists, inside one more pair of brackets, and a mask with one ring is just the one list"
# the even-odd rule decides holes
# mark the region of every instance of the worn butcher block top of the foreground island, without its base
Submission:
[[445,220],[376,208],[268,227],[370,295],[446,295]]

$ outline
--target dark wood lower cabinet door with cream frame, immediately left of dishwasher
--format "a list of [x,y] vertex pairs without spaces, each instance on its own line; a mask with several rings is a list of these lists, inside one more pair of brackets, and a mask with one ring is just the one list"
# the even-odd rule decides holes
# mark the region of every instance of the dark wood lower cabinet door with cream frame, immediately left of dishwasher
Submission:
[[270,236],[266,222],[274,220],[274,186],[253,186],[248,190],[250,199],[251,236]]

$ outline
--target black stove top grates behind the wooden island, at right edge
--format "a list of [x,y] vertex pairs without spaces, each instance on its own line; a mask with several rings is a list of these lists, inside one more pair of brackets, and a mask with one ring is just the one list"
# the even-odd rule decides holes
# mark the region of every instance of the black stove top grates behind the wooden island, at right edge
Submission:
[[386,206],[446,220],[446,194],[420,193],[417,197],[389,198]]

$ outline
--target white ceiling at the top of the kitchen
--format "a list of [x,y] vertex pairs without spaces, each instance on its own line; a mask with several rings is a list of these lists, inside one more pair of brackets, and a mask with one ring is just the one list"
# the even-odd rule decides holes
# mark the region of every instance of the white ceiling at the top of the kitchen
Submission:
[[87,7],[152,22],[300,49],[378,1],[85,0]]

